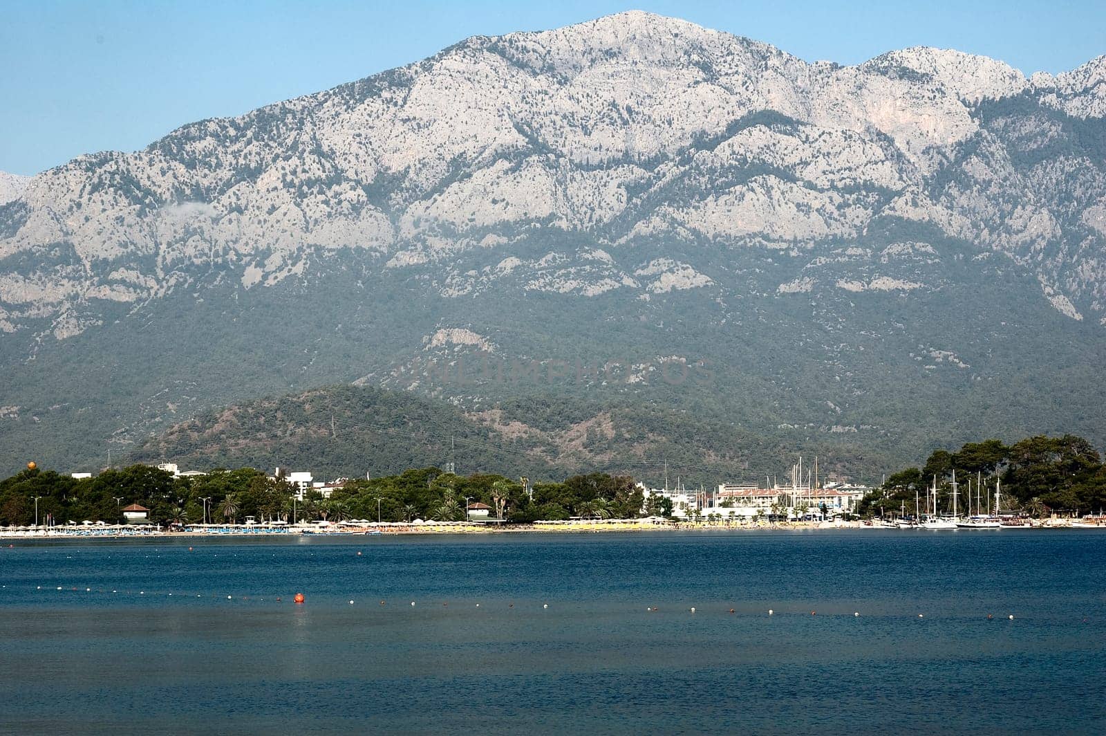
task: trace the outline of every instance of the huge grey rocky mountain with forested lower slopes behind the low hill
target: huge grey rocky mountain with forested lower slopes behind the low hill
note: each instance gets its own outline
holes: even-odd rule
[[[635,11],[81,156],[0,205],[0,465],[351,382],[1104,444],[1104,80]]]

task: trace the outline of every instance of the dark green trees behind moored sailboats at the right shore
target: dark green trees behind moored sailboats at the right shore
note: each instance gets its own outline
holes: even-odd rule
[[[1006,446],[998,439],[968,443],[957,452],[935,450],[921,468],[911,467],[887,478],[865,498],[862,512],[890,512],[905,504],[914,510],[915,494],[922,499],[937,484],[942,511],[952,504],[956,470],[960,508],[967,494],[981,495],[993,508],[995,485],[1001,487],[1003,510],[1031,516],[1098,514],[1106,509],[1106,465],[1094,446],[1082,437],[1036,436]],[[973,501],[974,504],[974,501]],[[984,507],[988,508],[988,507]],[[925,508],[921,509],[925,511]]]

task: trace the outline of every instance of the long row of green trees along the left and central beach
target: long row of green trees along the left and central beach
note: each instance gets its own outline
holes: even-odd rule
[[[529,491],[521,479],[501,475],[457,476],[437,468],[406,470],[371,480],[349,480],[323,498],[309,490],[303,500],[282,479],[253,468],[215,470],[204,476],[177,477],[147,465],[109,469],[94,478],[75,479],[53,470],[23,470],[0,481],[0,525],[123,520],[122,509],[139,504],[157,524],[238,522],[294,518],[299,521],[379,518],[456,521],[467,504],[484,504],[491,518],[509,522],[542,519],[633,518],[643,515],[643,494],[633,478],[603,473],[578,475],[563,483],[535,484]],[[654,505],[650,514],[671,512]]]

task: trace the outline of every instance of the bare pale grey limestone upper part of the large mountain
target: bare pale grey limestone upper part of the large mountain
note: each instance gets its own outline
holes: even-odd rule
[[[838,66],[638,11],[476,37],[138,153],[0,174],[3,325],[63,339],[104,301],[140,304],[212,269],[272,287],[337,251],[448,271],[490,249],[519,259],[519,288],[636,298],[713,283],[695,263],[636,278],[624,252],[641,238],[817,248],[887,218],[1001,251],[1097,322],[1104,60],[1032,79],[929,48]],[[611,260],[521,259],[512,243],[535,228]],[[502,274],[453,273],[442,293]]]

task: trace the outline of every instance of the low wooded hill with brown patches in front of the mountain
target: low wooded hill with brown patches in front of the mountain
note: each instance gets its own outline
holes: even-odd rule
[[[734,442],[738,440],[738,442]],[[866,460],[836,447],[834,473]],[[720,422],[633,403],[503,402],[463,411],[409,392],[323,386],[243,402],[175,424],[138,444],[131,460],[182,468],[307,469],[373,477],[453,464],[460,474],[531,479],[611,471],[662,483],[665,464],[687,485],[752,479],[752,458],[790,465],[791,448]]]

